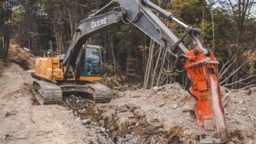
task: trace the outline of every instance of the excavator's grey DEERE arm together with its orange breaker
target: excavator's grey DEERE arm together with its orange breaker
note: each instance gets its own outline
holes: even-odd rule
[[[106,12],[118,3],[120,9]],[[181,37],[176,35],[152,12],[153,9],[168,20],[172,20],[184,27]],[[117,23],[133,24],[165,48],[167,52],[177,57],[176,65],[172,69],[164,69],[167,73],[178,71],[177,63],[182,62],[188,71],[191,90],[190,94],[196,98],[195,113],[202,143],[225,143],[228,141],[228,131],[221,105],[221,94],[218,77],[218,64],[213,54],[202,45],[200,31],[179,21],[173,14],[167,12],[149,0],[113,0],[98,10],[95,14],[79,23],[75,29],[72,42],[68,48],[63,64],[66,65],[64,76],[70,66],[76,69],[77,58],[82,45],[89,37],[105,29],[114,27]],[[184,43],[189,37],[188,43]],[[188,48],[190,43],[194,48]],[[79,63],[78,63],[79,64]]]

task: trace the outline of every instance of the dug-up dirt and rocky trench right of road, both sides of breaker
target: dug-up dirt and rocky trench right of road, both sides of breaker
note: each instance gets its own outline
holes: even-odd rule
[[[104,105],[86,103],[82,96],[66,97],[65,103],[74,109],[75,116],[86,122],[89,118],[108,131],[106,137],[112,143],[199,143],[196,101],[179,84],[115,93],[116,99]],[[256,142],[256,90],[249,96],[242,91],[225,99],[230,141]]]

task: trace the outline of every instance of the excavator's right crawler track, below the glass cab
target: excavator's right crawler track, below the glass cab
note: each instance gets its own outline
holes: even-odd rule
[[[91,103],[109,103],[112,101],[110,88],[99,82],[59,82],[62,92],[85,93],[85,98]]]

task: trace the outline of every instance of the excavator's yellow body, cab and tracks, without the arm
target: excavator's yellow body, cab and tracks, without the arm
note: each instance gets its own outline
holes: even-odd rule
[[[62,93],[79,92],[92,103],[110,102],[110,88],[98,82],[102,73],[101,51],[102,46],[83,45],[79,52],[81,67],[78,79],[72,71],[68,72],[68,79],[64,79],[66,66],[62,64],[63,55],[53,57],[51,54],[51,58],[37,58],[35,73],[32,74],[38,79],[33,82],[33,93],[37,101],[41,105],[62,104]]]

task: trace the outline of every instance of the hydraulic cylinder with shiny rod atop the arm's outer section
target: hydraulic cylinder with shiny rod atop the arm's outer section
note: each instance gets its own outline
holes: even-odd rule
[[[173,22],[176,22],[177,24],[179,24],[180,26],[182,26],[184,28],[188,27],[186,24],[184,24],[183,22],[181,22],[180,20],[175,18],[174,15],[171,12],[167,12],[166,10],[161,9],[161,7],[158,7],[158,5],[155,5],[154,3],[152,3],[149,0],[141,0],[141,1],[142,1],[142,3],[144,3],[144,5],[156,10],[157,12],[159,12],[165,18],[173,20]]]

